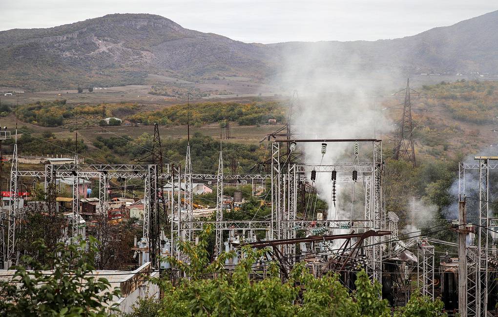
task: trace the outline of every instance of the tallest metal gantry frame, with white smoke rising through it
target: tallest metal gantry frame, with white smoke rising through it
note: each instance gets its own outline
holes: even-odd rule
[[[305,164],[289,163],[283,161],[280,151],[281,143],[307,143],[307,142],[371,142],[373,145],[372,162],[337,162],[335,164]],[[274,140],[271,145],[271,236],[273,239],[295,238],[295,227],[299,222],[296,217],[297,186],[302,181],[306,168],[313,168],[315,172],[332,172],[357,170],[363,176],[361,180],[370,186],[365,190],[366,195],[366,227],[380,231],[384,217],[382,215],[382,145],[380,140]],[[369,177],[370,176],[370,177]],[[360,179],[360,178],[359,178]],[[369,244],[369,274],[377,281],[382,276],[382,246],[380,236],[371,237]],[[294,255],[294,245],[279,246],[283,255]]]

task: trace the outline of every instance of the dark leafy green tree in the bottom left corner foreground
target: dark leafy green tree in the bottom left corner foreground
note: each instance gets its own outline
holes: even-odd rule
[[[90,251],[98,243],[89,237]],[[92,257],[85,251],[87,243],[64,245],[48,250],[43,240],[35,242],[38,252],[51,258],[53,265],[43,265],[30,256],[23,256],[23,265],[15,267],[12,281],[0,283],[0,315],[12,317],[107,317],[117,312],[113,298],[119,290],[96,278]],[[31,270],[27,270],[30,268]],[[43,272],[51,270],[50,273]]]

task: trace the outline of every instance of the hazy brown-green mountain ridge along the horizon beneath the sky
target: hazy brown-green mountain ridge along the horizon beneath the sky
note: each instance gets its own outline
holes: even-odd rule
[[[285,67],[341,70],[356,56],[361,69],[410,73],[498,73],[498,10],[396,39],[245,43],[182,27],[148,13],[116,13],[51,28],[0,31],[0,86],[45,88],[143,84],[148,74],[200,79],[264,80]]]

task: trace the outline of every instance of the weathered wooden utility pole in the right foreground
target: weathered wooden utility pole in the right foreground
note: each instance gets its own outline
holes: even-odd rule
[[[460,198],[461,199],[461,198]],[[465,197],[458,203],[458,313],[467,317],[467,212]]]

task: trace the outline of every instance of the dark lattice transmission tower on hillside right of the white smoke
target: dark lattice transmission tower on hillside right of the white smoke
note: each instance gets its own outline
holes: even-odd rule
[[[406,88],[397,93],[403,91],[405,92],[405,99],[403,114],[398,122],[399,130],[394,145],[394,159],[407,159],[412,162],[413,166],[416,166],[415,145],[413,144],[415,122],[411,116],[411,94],[414,93],[420,96],[420,93],[410,88],[410,79],[406,80]]]

